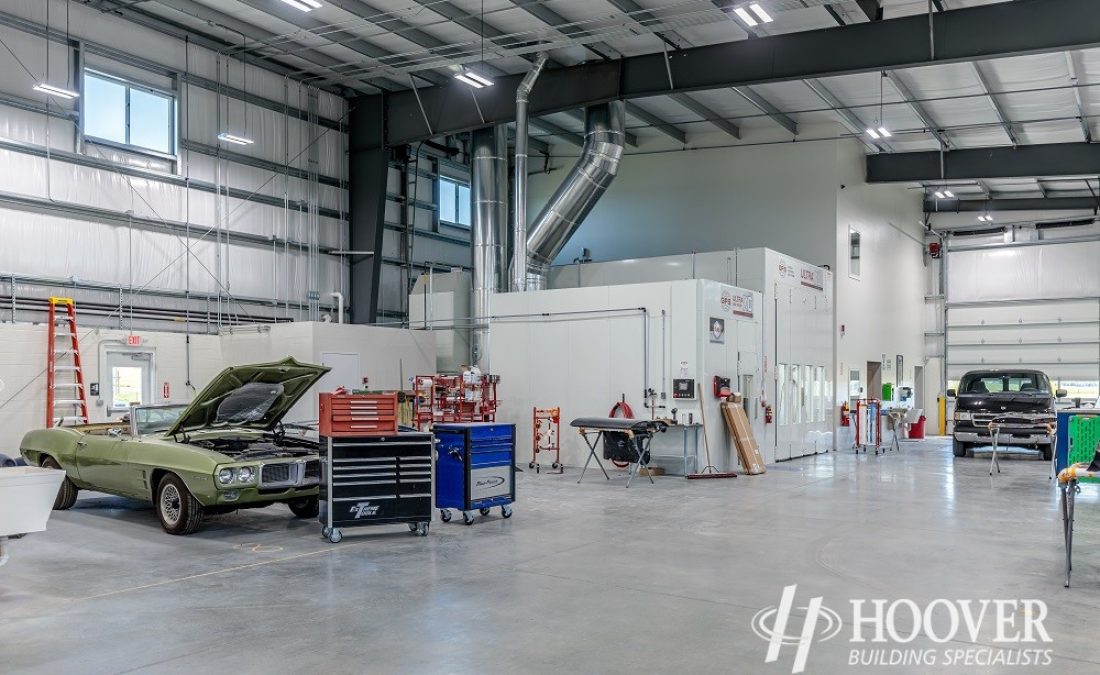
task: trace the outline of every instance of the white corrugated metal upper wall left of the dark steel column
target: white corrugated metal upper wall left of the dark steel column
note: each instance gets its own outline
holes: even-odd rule
[[[4,2],[0,320],[58,292],[103,314],[189,309],[215,328],[328,311],[346,286],[332,253],[348,241],[345,101],[82,4],[65,26],[65,9],[52,4],[51,82],[75,88],[82,60],[173,92],[177,156],[85,142],[79,100],[32,89],[46,75],[45,2]],[[255,143],[219,147],[227,120]]]

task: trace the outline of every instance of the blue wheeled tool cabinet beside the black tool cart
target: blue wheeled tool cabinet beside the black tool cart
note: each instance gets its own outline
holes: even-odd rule
[[[436,507],[443,522],[450,509],[473,524],[474,513],[501,507],[512,517],[516,500],[516,425],[496,422],[436,424]]]

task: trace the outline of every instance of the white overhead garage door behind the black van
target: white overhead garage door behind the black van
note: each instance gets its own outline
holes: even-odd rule
[[[1035,367],[1071,397],[1100,396],[1100,242],[972,244],[947,254],[947,380]]]

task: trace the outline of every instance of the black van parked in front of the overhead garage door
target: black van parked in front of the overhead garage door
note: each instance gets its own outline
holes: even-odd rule
[[[955,398],[955,456],[964,457],[977,445],[991,445],[990,423],[1000,425],[998,444],[1033,447],[1049,461],[1054,453],[1050,430],[1057,417],[1050,379],[1040,370],[970,370],[959,380]]]

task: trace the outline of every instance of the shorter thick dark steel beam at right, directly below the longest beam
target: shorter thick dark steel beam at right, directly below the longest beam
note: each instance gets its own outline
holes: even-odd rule
[[[941,175],[941,155],[943,174]],[[976,178],[1034,178],[1094,176],[1100,166],[1098,143],[1046,143],[926,151],[867,157],[868,182],[974,180]]]

